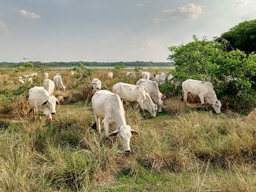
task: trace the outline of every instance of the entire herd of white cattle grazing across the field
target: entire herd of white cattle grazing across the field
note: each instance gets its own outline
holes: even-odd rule
[[[31,73],[30,75],[23,75],[19,77],[19,81],[24,83],[25,81],[32,81],[32,77],[37,75],[36,73]],[[49,122],[52,120],[51,115],[56,113],[56,104],[59,105],[59,99],[53,95],[54,88],[58,90],[65,91],[66,87],[63,85],[61,74],[56,73],[53,80],[50,80],[48,73],[43,74],[45,80],[43,81],[43,86],[34,86],[28,91],[28,103],[33,111],[33,118],[35,115],[40,117],[40,111],[43,114],[48,115]],[[73,72],[74,75],[74,72]],[[101,126],[104,126],[106,137],[116,136],[119,133],[122,147],[124,151],[130,151],[130,137],[132,135],[139,135],[137,131],[133,130],[126,123],[125,111],[123,102],[129,104],[129,102],[134,102],[135,107],[139,107],[145,114],[147,110],[151,117],[156,117],[157,112],[162,111],[164,102],[162,98],[165,98],[158,86],[162,85],[166,80],[176,85],[179,83],[173,80],[173,75],[166,75],[166,73],[161,73],[160,75],[154,76],[150,72],[142,72],[139,70],[140,79],[137,81],[136,85],[124,82],[118,82],[113,85],[112,90],[101,90],[101,81],[98,78],[93,78],[91,81],[91,93],[92,96],[92,108],[95,117],[94,128],[100,133]],[[108,78],[113,78],[113,72],[107,73]],[[135,78],[134,72],[127,72],[127,78]],[[179,83],[180,85],[180,83]],[[221,112],[221,102],[218,101],[215,91],[213,90],[213,85],[210,81],[199,81],[199,80],[186,80],[182,82],[182,97],[184,103],[187,103],[187,94],[193,94],[198,96],[201,101],[201,105],[208,103],[211,104],[216,114]],[[115,129],[109,134],[109,125],[114,125]]]

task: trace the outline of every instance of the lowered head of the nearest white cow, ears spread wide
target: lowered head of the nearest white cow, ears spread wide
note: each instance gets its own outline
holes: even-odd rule
[[[119,127],[119,129],[113,131],[109,134],[109,136],[116,136],[117,133],[119,133],[122,147],[124,148],[125,152],[130,152],[130,137],[132,135],[139,135],[139,133],[132,128],[130,128],[130,125],[122,125]]]

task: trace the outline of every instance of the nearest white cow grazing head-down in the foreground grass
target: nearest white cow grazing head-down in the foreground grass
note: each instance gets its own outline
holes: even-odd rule
[[[98,133],[101,132],[103,122],[105,136],[109,138],[119,133],[124,151],[130,152],[130,137],[132,135],[139,135],[139,133],[126,124],[124,106],[120,97],[108,90],[96,91],[92,97],[92,108]],[[109,124],[114,124],[116,128],[110,134]]]

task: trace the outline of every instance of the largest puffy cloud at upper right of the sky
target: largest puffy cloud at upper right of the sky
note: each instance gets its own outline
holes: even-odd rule
[[[191,20],[198,19],[199,15],[203,12],[202,6],[197,6],[194,3],[189,3],[186,6],[178,7],[178,9],[182,14],[187,15],[187,17],[189,17]]]

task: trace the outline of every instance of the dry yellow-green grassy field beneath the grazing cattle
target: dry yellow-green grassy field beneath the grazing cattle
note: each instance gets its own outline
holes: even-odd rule
[[[92,78],[111,90],[118,81],[135,84],[127,71],[109,80],[106,69],[94,69]],[[55,94],[65,101],[47,123],[20,107],[27,92],[11,94],[22,91],[17,77],[25,73],[0,71],[0,191],[256,191],[256,121],[246,115],[197,111],[180,97],[164,99],[155,118],[126,106],[127,124],[140,136],[124,154],[118,137],[90,130],[90,78],[70,77],[69,70],[51,70],[49,78],[57,72],[66,91]],[[38,72],[34,85],[42,81]]]

